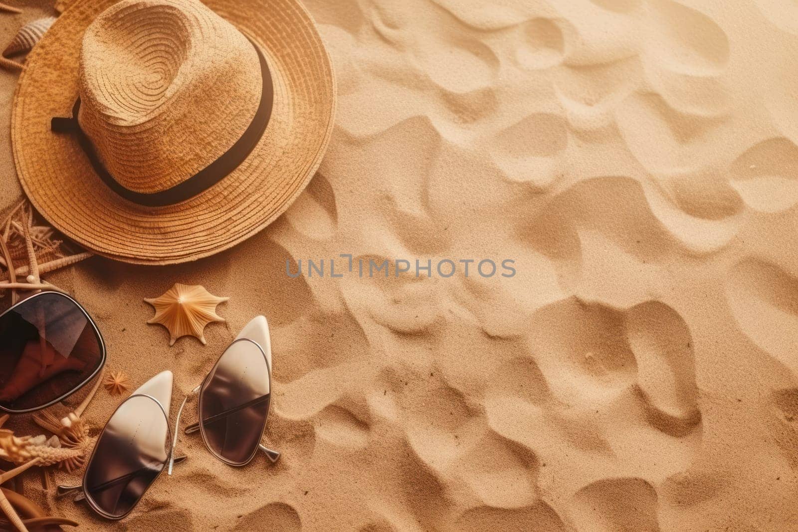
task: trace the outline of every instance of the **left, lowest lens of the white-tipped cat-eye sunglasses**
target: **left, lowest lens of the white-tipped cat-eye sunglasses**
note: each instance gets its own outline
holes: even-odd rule
[[[127,515],[164,470],[168,440],[168,420],[156,400],[124,400],[97,439],[86,467],[83,489],[89,503],[110,518]]]

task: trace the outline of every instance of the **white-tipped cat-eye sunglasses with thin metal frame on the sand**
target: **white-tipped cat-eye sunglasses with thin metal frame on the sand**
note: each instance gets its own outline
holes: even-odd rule
[[[195,395],[199,396],[199,421],[189,425],[186,432],[199,431],[217,459],[242,467],[259,450],[271,462],[279,459],[279,452],[260,443],[271,406],[271,341],[266,318],[258,316],[227,346],[203,382],[183,400],[174,432],[168,420],[172,372],[167,370],[122,401],[97,438],[83,483],[59,486],[58,495],[81,489],[76,502],[85,500],[105,518],[124,518],[164,470],[171,475],[174,463],[185,459],[175,455],[177,434],[180,415]]]

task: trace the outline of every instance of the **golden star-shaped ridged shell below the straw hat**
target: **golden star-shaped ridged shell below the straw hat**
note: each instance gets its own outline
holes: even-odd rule
[[[230,298],[217,298],[203,286],[175,283],[160,298],[144,299],[155,307],[155,316],[147,323],[164,325],[169,331],[169,345],[184,336],[194,336],[206,345],[203,330],[211,321],[224,321],[216,314],[216,305]]]

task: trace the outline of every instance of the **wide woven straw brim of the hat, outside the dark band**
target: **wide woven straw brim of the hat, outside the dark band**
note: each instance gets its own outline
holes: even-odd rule
[[[275,104],[257,147],[207,191],[168,207],[142,207],[105,186],[71,136],[50,131],[77,98],[87,26],[117,0],[73,3],[26,59],[11,115],[17,173],[34,207],[69,238],[139,264],[187,262],[235,246],[285,211],[313,177],[334,123],[330,57],[294,0],[203,0],[263,50]]]

